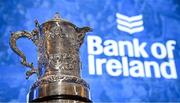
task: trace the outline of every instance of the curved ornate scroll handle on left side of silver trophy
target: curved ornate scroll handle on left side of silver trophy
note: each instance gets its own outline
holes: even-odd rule
[[[37,36],[38,36],[38,30],[33,30],[31,33],[27,32],[27,31],[17,31],[17,32],[13,32],[11,33],[11,37],[10,37],[10,47],[12,48],[12,50],[21,58],[21,64],[31,68],[31,70],[26,72],[26,79],[28,79],[32,74],[36,73],[37,75],[38,73],[38,69],[35,69],[33,66],[33,63],[28,63],[26,60],[26,57],[24,55],[23,52],[21,52],[17,46],[16,46],[16,41],[19,38],[28,38],[30,40],[33,41],[33,43],[35,43],[37,45]]]

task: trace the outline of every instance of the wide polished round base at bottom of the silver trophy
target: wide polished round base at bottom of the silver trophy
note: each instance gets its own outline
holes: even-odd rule
[[[29,102],[91,102],[89,86],[75,76],[51,75],[35,82],[29,92]]]

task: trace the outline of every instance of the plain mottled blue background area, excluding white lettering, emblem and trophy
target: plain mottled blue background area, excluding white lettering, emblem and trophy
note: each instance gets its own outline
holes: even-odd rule
[[[0,102],[25,102],[36,76],[25,79],[25,68],[9,47],[10,32],[32,31],[34,20],[43,23],[59,12],[61,17],[78,27],[90,26],[93,32],[85,37],[80,49],[82,78],[91,88],[96,102],[180,102],[180,1],[179,0],[0,0]],[[126,16],[143,15],[144,29],[129,34],[117,28],[116,13]],[[103,71],[90,75],[87,36],[103,40],[132,40],[148,43],[175,40],[174,60],[177,79],[113,77]],[[28,61],[37,66],[37,48],[28,39],[20,39],[18,47]],[[100,55],[103,58],[105,55]],[[144,58],[136,58],[141,61]],[[153,59],[153,58],[150,58]],[[165,59],[156,60],[166,61]],[[102,67],[105,70],[105,66]]]

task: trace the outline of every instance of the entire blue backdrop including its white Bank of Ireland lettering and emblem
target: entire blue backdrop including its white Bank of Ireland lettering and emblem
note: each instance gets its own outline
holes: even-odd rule
[[[9,47],[10,31],[31,31],[35,19],[43,23],[55,12],[93,28],[80,57],[94,102],[180,102],[179,0],[1,0],[1,102],[25,102],[36,79],[25,79],[28,68]],[[37,65],[31,41],[18,47]]]

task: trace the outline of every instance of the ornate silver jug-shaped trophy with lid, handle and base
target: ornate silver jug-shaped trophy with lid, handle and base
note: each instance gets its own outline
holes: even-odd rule
[[[89,85],[80,77],[79,48],[89,27],[79,28],[60,18],[39,24],[32,32],[13,32],[10,38],[12,50],[21,57],[22,65],[31,68],[27,78],[37,74],[38,79],[29,91],[29,102],[91,102]],[[28,63],[25,55],[16,47],[16,40],[28,38],[38,48],[38,67]]]

